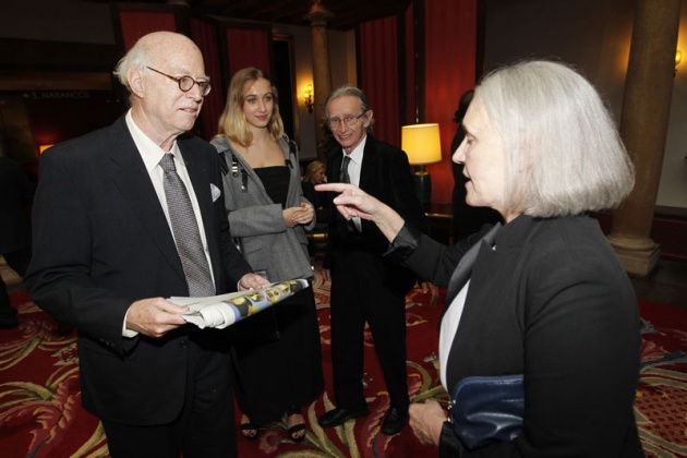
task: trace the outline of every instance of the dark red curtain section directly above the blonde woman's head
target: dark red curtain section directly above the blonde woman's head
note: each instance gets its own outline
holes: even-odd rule
[[[229,74],[245,67],[272,72],[272,32],[267,28],[227,28]]]

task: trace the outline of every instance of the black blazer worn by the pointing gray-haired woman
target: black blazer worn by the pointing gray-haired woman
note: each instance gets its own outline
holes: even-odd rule
[[[447,248],[420,237],[406,263],[447,286],[475,240]],[[478,254],[446,385],[525,373],[525,430],[514,444],[480,456],[641,456],[632,414],[637,299],[598,222],[520,216],[501,229],[495,248],[483,244]],[[471,456],[447,434],[439,448]]]

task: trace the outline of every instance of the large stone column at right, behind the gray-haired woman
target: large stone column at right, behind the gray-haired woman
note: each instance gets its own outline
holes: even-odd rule
[[[613,216],[608,240],[625,269],[646,277],[661,254],[650,233],[671,112],[680,0],[637,0],[636,8],[620,117],[636,184]]]

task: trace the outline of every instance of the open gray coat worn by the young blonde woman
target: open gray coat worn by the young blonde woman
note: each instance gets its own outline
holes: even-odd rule
[[[225,204],[231,236],[241,240],[245,260],[256,270],[266,269],[270,281],[312,277],[305,231],[313,229],[315,219],[305,227],[288,228],[284,222],[281,205],[272,201],[255,171],[231,148],[229,141],[218,137],[210,143],[228,166],[222,177]],[[279,141],[291,172],[287,206],[297,207],[309,201],[303,197],[301,189],[296,144],[291,153],[289,143],[286,135]],[[238,167],[232,169],[233,160]],[[245,191],[242,190],[244,183]]]

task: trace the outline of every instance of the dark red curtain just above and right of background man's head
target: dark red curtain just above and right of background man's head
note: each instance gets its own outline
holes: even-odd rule
[[[360,87],[374,112],[373,135],[400,147],[396,17],[360,25]]]

